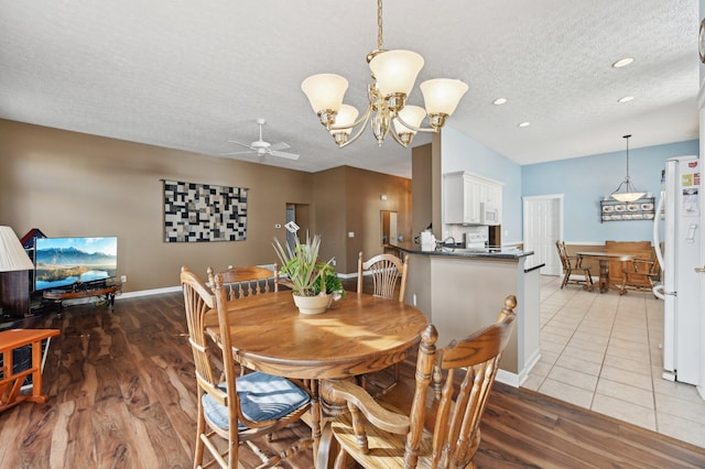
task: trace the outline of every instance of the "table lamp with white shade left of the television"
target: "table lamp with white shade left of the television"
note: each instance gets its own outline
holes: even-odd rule
[[[0,304],[2,314],[30,314],[30,275],[34,263],[26,255],[12,228],[0,227]]]

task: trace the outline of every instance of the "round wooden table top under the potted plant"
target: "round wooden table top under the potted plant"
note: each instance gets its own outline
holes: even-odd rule
[[[291,291],[228,303],[230,340],[243,366],[299,379],[338,379],[384,369],[403,360],[426,327],[413,306],[347,292],[319,315],[302,315]],[[216,312],[206,319],[216,337]]]

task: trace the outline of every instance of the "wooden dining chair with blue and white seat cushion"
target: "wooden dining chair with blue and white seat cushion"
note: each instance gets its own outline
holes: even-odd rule
[[[297,441],[293,448],[271,456],[260,451],[252,440],[299,421],[308,410],[311,396],[284,378],[261,372],[236,377],[226,288],[221,275],[215,275],[214,281],[212,290],[188,268],[182,268],[188,343],[194,355],[198,394],[194,468],[213,463],[237,468],[241,443],[260,457],[259,467],[273,467],[283,458],[311,447],[313,440]],[[205,331],[206,316],[215,313],[221,337],[219,345]],[[204,449],[210,455],[205,466]]]

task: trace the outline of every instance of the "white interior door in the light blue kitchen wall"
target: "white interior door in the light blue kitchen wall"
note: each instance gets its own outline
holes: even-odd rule
[[[524,197],[523,218],[524,250],[533,251],[533,262],[545,264],[542,275],[560,275],[555,242],[563,238],[563,195]]]

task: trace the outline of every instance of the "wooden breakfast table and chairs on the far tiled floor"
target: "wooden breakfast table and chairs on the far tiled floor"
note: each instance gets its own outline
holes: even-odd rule
[[[660,264],[649,241],[605,241],[595,250],[578,250],[568,254],[565,242],[556,241],[563,266],[561,288],[568,283],[592,291],[595,285],[590,261],[598,264],[600,293],[616,290],[620,295],[628,291],[650,291],[660,280]]]

